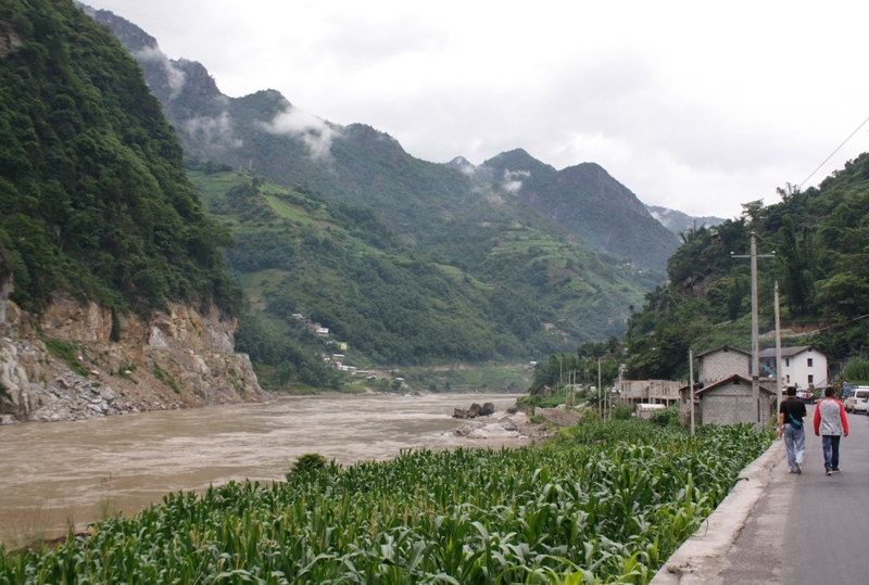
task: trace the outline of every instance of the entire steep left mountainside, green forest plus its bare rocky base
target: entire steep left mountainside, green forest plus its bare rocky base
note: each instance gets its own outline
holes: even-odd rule
[[[0,3],[0,421],[263,399],[231,243],[117,40],[71,0]]]

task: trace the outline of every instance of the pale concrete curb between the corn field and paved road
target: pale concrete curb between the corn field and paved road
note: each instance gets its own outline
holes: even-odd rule
[[[784,441],[773,441],[760,457],[740,473],[742,479],[697,532],[667,560],[650,585],[713,583],[723,568],[723,558],[755,504],[764,495],[773,466],[784,455]]]

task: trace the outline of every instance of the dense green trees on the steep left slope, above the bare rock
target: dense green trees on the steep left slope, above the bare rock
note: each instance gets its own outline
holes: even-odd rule
[[[239,308],[181,148],[137,63],[71,0],[0,4],[0,251],[13,300]]]

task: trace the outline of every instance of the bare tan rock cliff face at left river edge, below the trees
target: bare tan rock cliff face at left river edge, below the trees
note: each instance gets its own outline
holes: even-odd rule
[[[200,313],[171,304],[142,319],[55,295],[36,316],[0,295],[3,315],[0,423],[267,397],[248,356],[232,353],[235,320],[214,307]]]

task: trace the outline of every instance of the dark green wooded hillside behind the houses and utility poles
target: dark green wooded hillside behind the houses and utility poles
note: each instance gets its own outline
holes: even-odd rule
[[[628,329],[634,379],[684,378],[689,348],[750,347],[750,237],[758,252],[761,333],[774,327],[772,293],[781,291],[782,327],[806,333],[785,343],[814,344],[836,363],[869,339],[869,154],[847,163],[819,188],[779,190],[781,202],[745,204],[743,216],[682,234],[668,263],[670,281],[646,295]],[[771,342],[770,342],[771,343]]]

